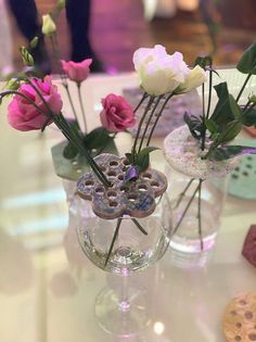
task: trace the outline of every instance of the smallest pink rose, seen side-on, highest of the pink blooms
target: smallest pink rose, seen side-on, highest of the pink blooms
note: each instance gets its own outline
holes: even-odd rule
[[[64,73],[76,83],[81,83],[82,80],[86,80],[89,73],[90,73],[90,65],[92,63],[91,59],[85,60],[80,63],[75,63],[73,61],[65,62],[61,61],[62,68]]]

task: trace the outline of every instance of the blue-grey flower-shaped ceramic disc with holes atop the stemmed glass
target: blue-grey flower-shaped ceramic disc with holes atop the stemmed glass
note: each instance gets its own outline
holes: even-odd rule
[[[111,188],[105,189],[93,172],[82,175],[77,182],[77,193],[92,202],[94,214],[101,218],[114,219],[123,215],[146,217],[155,210],[155,199],[167,189],[164,174],[149,167],[126,189],[125,176],[131,166],[126,157],[103,153],[94,157],[105,174]]]

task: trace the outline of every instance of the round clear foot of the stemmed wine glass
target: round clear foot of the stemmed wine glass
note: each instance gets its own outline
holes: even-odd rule
[[[95,317],[99,326],[119,338],[131,338],[150,326],[146,291],[129,289],[128,300],[111,288],[103,289],[95,300]]]

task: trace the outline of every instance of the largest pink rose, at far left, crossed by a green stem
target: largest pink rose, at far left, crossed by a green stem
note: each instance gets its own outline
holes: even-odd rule
[[[50,106],[54,114],[59,114],[62,110],[62,99],[57,92],[56,86],[52,85],[51,76],[46,76],[44,79],[31,79],[34,86],[40,91],[44,101]],[[36,90],[28,84],[23,84],[18,91],[29,98],[35,104],[37,104],[42,114],[38,109],[35,107],[29,101],[15,94],[12,102],[8,107],[8,121],[9,124],[17,130],[33,130],[41,129],[49,121],[49,110],[42,102]],[[48,123],[50,125],[52,121]]]

